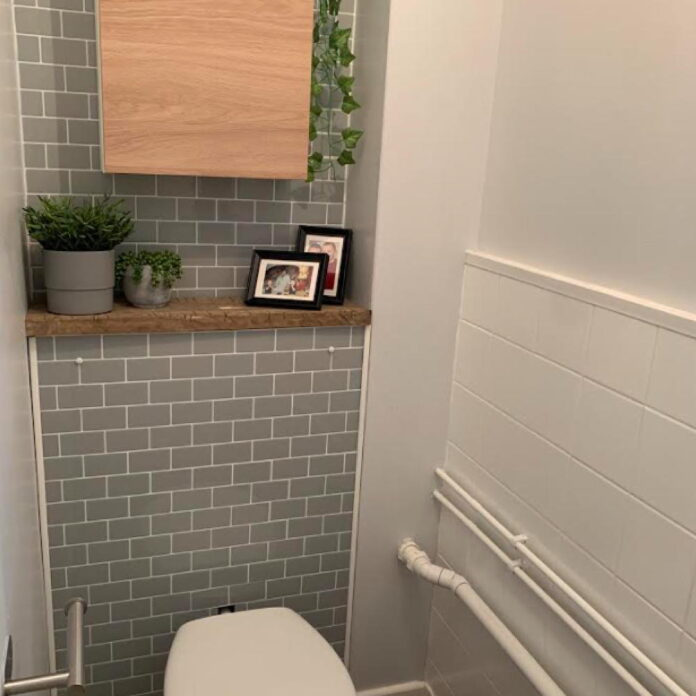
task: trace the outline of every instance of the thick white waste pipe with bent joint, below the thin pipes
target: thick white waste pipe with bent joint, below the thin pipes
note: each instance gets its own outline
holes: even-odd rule
[[[481,599],[466,578],[432,563],[425,551],[412,539],[405,539],[399,546],[399,560],[412,573],[434,585],[451,590],[462,600],[542,696],[566,696],[527,648]]]

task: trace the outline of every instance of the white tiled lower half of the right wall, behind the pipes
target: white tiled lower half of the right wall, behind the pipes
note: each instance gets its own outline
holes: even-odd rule
[[[467,266],[446,466],[696,693],[695,339]],[[439,554],[569,696],[632,693],[447,512]],[[438,595],[437,696],[530,693],[481,632]]]

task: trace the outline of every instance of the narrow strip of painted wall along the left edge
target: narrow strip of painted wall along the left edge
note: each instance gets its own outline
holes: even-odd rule
[[[0,0],[0,640],[15,675],[48,669],[29,400],[20,208],[23,175],[12,7]]]

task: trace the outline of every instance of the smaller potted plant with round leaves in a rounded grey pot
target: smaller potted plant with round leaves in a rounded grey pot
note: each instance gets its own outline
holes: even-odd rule
[[[181,276],[181,256],[173,251],[127,251],[116,262],[116,277],[126,299],[143,309],[167,305]]]

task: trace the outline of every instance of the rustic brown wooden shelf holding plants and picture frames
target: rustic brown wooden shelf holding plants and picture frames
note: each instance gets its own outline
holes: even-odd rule
[[[367,326],[369,309],[346,303],[320,311],[247,307],[237,298],[183,298],[163,309],[137,309],[117,302],[108,314],[50,314],[45,306],[27,312],[27,336],[81,336],[131,333],[194,333],[322,326]]]

